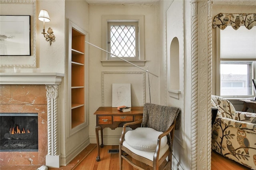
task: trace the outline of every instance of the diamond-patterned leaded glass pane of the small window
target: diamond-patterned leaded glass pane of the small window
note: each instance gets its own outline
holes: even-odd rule
[[[135,26],[110,26],[110,53],[118,57],[135,57],[135,33]]]

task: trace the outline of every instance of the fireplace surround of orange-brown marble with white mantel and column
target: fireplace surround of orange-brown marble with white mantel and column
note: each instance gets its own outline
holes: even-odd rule
[[[60,167],[58,88],[61,73],[0,73],[0,113],[38,113],[38,152],[0,152],[1,166]]]

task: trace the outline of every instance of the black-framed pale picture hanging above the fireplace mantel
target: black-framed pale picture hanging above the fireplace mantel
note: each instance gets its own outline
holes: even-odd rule
[[[0,16],[0,55],[31,55],[30,16]]]

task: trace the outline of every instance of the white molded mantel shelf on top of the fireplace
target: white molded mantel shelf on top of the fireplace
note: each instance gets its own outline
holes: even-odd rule
[[[0,73],[0,84],[58,85],[62,77],[62,73]]]

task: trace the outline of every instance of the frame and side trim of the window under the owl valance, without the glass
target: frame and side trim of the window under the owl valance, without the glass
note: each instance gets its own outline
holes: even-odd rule
[[[220,29],[216,28],[216,95],[220,96],[220,62],[221,61],[252,61],[252,79],[256,79],[256,59],[221,59],[220,57]],[[252,80],[251,80],[252,81]],[[253,98],[255,97],[254,91],[252,95],[244,96],[222,96],[229,99],[240,99],[240,98]]]

